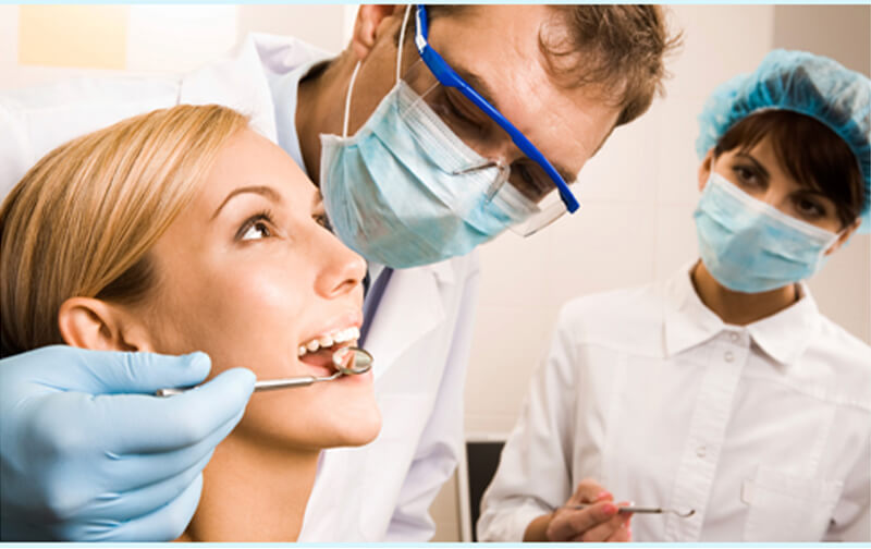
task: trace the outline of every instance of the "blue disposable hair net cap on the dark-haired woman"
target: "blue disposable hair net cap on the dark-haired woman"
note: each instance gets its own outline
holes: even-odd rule
[[[870,233],[871,80],[822,56],[774,50],[755,72],[722,84],[708,99],[699,114],[699,157],[704,157],[733,124],[766,109],[812,117],[847,143],[864,180],[859,232]]]

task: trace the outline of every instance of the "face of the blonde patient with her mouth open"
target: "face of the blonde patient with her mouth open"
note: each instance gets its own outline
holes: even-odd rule
[[[158,274],[144,312],[158,352],[194,350],[212,375],[324,376],[312,339],[359,328],[366,265],[321,224],[317,188],[278,146],[234,136],[195,199],[151,251]],[[371,373],[255,393],[236,434],[314,449],[359,444],[380,428]]]

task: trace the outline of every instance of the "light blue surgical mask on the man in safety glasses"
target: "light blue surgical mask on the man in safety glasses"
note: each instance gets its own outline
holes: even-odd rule
[[[402,80],[345,135],[321,135],[320,190],[335,233],[369,260],[406,268],[465,255],[538,211],[512,185],[491,196],[501,168],[473,169],[489,162]]]

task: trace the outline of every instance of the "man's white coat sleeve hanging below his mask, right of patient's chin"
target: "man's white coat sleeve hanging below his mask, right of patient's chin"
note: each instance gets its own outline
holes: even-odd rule
[[[383,541],[428,541],[436,533],[432,500],[463,455],[463,393],[480,282],[477,255],[465,276],[461,304],[432,415],[418,441]]]

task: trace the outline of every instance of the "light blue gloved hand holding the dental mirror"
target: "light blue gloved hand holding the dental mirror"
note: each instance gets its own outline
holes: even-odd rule
[[[242,418],[250,370],[201,382],[208,355],[49,346],[0,361],[0,539],[163,541]],[[139,394],[135,394],[139,393]]]

